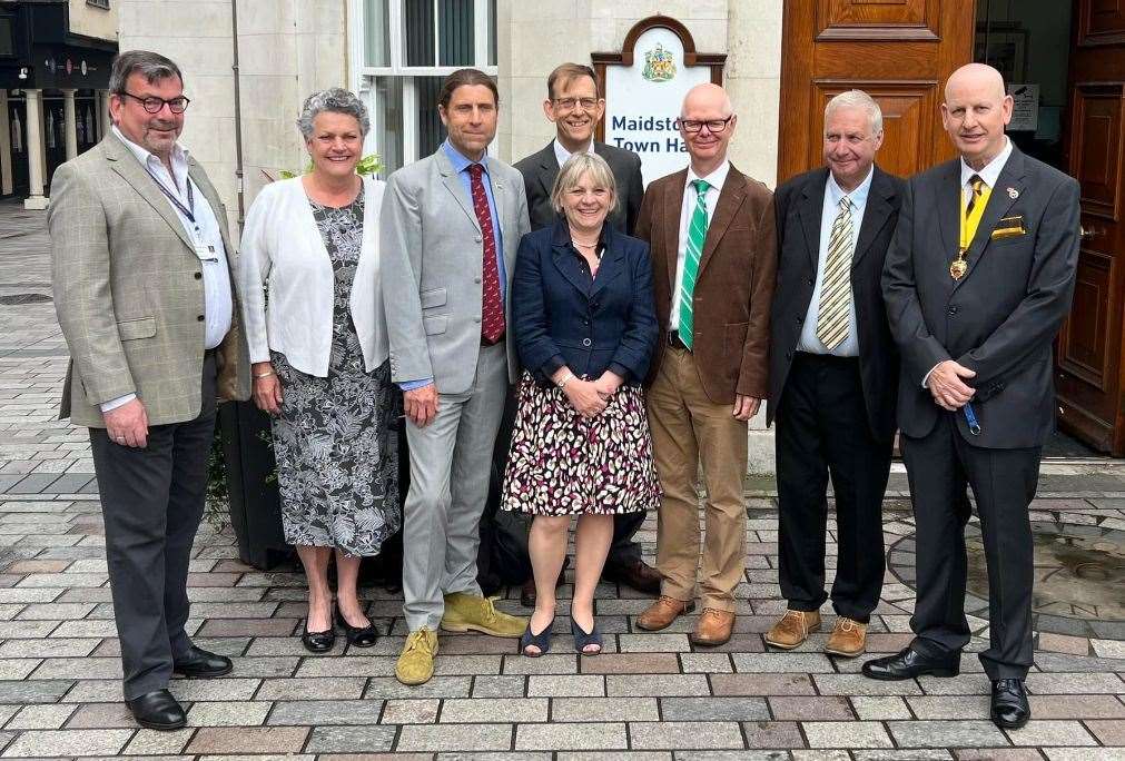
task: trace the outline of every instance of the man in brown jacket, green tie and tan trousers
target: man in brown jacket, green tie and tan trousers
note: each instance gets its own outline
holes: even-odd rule
[[[637,237],[652,255],[665,337],[649,373],[648,418],[664,489],[657,518],[660,597],[640,618],[663,629],[695,607],[700,463],[706,486],[703,614],[691,641],[719,645],[735,624],[746,552],[747,420],[768,388],[770,307],[777,266],[773,196],[730,165],[737,117],[716,84],[684,98],[687,169],[645,192]]]

